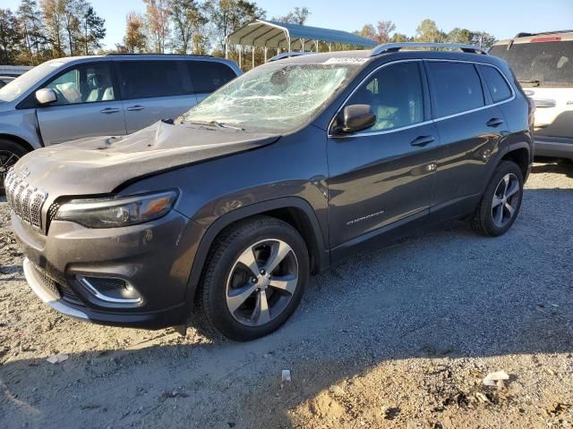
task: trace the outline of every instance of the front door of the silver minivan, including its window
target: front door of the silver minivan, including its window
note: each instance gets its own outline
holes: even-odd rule
[[[46,146],[84,137],[125,134],[124,106],[110,63],[70,67],[42,88],[54,89],[57,97],[56,103],[36,108]]]

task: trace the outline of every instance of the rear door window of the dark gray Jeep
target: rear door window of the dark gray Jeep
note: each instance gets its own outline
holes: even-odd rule
[[[482,81],[474,64],[428,62],[436,117],[460,114],[485,105]]]

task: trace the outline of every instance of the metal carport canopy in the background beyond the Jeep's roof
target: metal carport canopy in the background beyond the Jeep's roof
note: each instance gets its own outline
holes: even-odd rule
[[[227,36],[227,46],[280,48],[287,51],[307,50],[318,42],[374,47],[376,42],[339,29],[320,29],[278,21],[254,20]]]

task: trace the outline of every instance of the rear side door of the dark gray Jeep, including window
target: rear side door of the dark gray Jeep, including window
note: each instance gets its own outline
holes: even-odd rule
[[[452,216],[464,214],[480,197],[488,163],[508,126],[498,103],[492,102],[489,89],[482,83],[478,64],[440,60],[424,63],[432,94],[432,116],[448,154],[438,166],[435,208],[449,209]]]

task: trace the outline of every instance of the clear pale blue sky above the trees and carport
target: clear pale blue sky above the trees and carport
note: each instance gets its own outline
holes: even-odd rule
[[[0,1],[0,7],[13,10],[19,4],[19,0]],[[107,48],[115,47],[124,37],[126,14],[145,10],[141,0],[91,0],[91,4],[106,19]],[[496,38],[512,38],[520,31],[573,29],[573,0],[259,0],[257,4],[267,11],[269,18],[285,15],[296,6],[306,6],[312,13],[306,23],[329,29],[354,31],[366,23],[391,20],[396,23],[396,30],[407,36],[414,36],[416,27],[425,18],[436,21],[446,32],[460,27],[487,31]]]

